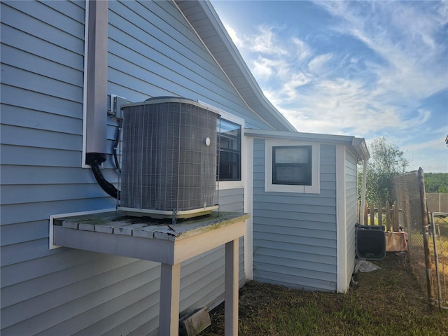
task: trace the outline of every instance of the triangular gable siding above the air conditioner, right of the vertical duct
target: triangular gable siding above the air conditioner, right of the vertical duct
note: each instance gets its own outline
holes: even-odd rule
[[[265,128],[171,1],[109,2],[109,92],[201,100]]]

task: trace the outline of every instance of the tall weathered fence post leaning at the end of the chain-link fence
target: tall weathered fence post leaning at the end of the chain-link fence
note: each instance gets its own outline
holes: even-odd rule
[[[425,252],[425,266],[426,266],[426,287],[428,290],[428,303],[430,309],[434,308],[433,296],[433,281],[431,274],[431,258],[429,251],[429,230],[428,230],[428,214],[426,211],[426,194],[425,194],[425,180],[423,177],[423,169],[419,168],[419,193],[420,193],[420,207],[421,207],[421,225],[423,233],[423,250]]]

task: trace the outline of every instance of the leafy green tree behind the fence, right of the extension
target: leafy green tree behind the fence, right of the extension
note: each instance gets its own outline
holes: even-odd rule
[[[409,161],[398,146],[391,144],[385,137],[376,137],[369,146],[370,159],[367,165],[367,202],[393,202],[391,199],[393,178],[406,172]],[[358,185],[363,172],[358,174]]]

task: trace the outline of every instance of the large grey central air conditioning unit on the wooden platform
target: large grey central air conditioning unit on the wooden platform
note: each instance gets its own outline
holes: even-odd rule
[[[118,209],[131,216],[190,218],[218,209],[219,115],[190,99],[125,104]]]

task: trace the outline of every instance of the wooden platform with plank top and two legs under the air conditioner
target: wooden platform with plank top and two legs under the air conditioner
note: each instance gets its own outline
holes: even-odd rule
[[[225,244],[225,335],[238,335],[238,239],[250,215],[212,212],[177,221],[120,211],[53,219],[53,244],[162,264],[160,335],[179,334],[181,262]]]

